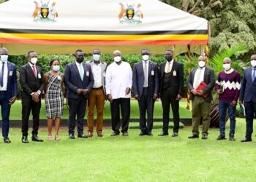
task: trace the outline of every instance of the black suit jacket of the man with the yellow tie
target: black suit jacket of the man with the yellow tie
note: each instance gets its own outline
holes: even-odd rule
[[[164,76],[165,76],[165,65],[166,61],[160,65],[160,76],[159,76],[159,93],[162,95]],[[173,71],[176,71],[176,76],[173,75]],[[182,95],[184,87],[184,68],[183,64],[173,60],[173,67],[170,71],[170,95],[176,97],[178,94]]]

